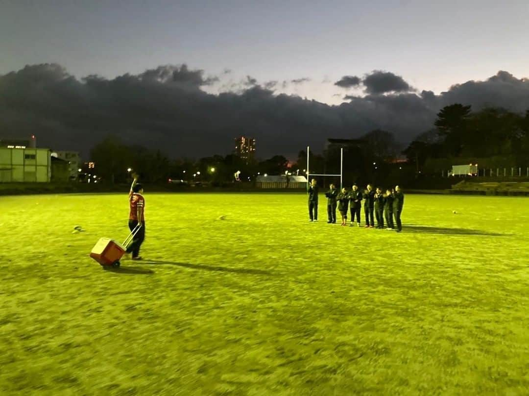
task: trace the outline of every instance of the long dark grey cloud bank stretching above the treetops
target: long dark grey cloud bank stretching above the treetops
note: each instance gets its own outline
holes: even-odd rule
[[[436,113],[452,103],[474,110],[487,105],[529,109],[529,81],[505,71],[440,95],[375,90],[346,96],[347,102],[337,106],[274,94],[272,89],[286,80],[260,86],[248,76],[245,82],[250,85],[229,82],[229,92],[213,95],[202,89],[211,78],[185,65],[80,80],[59,65],[26,66],[0,76],[0,133],[35,133],[41,147],[76,149],[85,157],[111,133],[127,143],[162,148],[172,157],[228,154],[233,137],[248,133],[257,139],[259,157],[295,156],[307,145],[320,150],[329,137],[354,138],[373,129],[408,142],[431,129]]]

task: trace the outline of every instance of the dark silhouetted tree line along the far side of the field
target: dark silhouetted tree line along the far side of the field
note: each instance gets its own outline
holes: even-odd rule
[[[312,174],[340,173],[341,145],[327,145],[321,154],[311,151]],[[407,161],[398,161],[399,157]],[[370,131],[344,147],[344,180],[346,183],[406,183],[416,178],[428,165],[443,167],[468,159],[529,165],[529,110],[518,114],[505,109],[487,107],[472,112],[471,106],[452,104],[443,107],[431,130],[419,134],[403,146],[394,134],[384,130]],[[499,159],[498,159],[499,158]],[[124,183],[138,172],[144,182],[166,183],[168,179],[186,182],[208,182],[213,185],[252,182],[258,175],[304,175],[307,153],[298,152],[295,161],[275,155],[264,160],[244,160],[235,154],[213,155],[200,159],[170,159],[161,150],[126,145],[115,136],[108,136],[91,151],[96,173],[107,183]],[[430,166],[430,170],[434,167]],[[437,169],[435,169],[435,172]],[[323,179],[325,182],[336,182]]]

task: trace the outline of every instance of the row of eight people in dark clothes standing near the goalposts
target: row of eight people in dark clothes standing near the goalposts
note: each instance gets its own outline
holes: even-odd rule
[[[318,192],[316,180],[312,179],[308,186],[309,221],[318,221]],[[347,214],[350,209],[350,226],[354,226],[356,219],[356,223],[360,227],[360,212],[363,201],[365,228],[375,228],[376,219],[376,228],[402,231],[400,214],[404,205],[404,194],[399,186],[395,186],[391,190],[388,188],[386,192],[383,192],[382,188],[377,187],[376,190],[373,190],[373,186],[368,184],[365,190],[360,191],[358,186],[354,184],[350,191],[345,187],[342,188],[342,191],[338,191],[336,186],[331,184],[325,196],[327,197],[327,215],[329,216],[327,223],[336,223],[336,208],[338,208],[342,218],[342,226],[346,226]]]

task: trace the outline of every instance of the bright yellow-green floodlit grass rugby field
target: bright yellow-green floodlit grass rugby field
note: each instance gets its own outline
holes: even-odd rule
[[[408,194],[398,234],[322,198],[147,192],[103,271],[126,193],[0,197],[0,394],[529,393],[529,200]]]

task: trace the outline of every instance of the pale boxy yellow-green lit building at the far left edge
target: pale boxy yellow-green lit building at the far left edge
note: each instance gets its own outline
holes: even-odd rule
[[[0,147],[0,183],[48,183],[51,177],[50,150],[11,143],[16,142]]]

